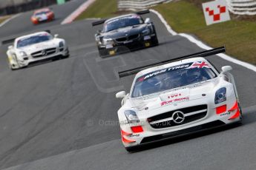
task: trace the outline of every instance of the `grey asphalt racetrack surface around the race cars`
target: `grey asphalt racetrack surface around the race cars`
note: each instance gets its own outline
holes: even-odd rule
[[[54,10],[61,13],[65,7]],[[170,35],[157,16],[149,14],[160,46],[101,59],[93,39],[99,28],[91,27],[91,21],[16,24],[26,16],[5,26],[13,29],[2,27],[1,39],[47,28],[66,39],[71,55],[10,71],[7,45],[0,47],[0,169],[255,169],[255,72],[217,56],[209,58],[218,69],[234,68],[243,126],[167,140],[129,154],[120,140],[120,100],[114,96],[129,90],[133,76],[119,80],[116,72],[202,50]]]

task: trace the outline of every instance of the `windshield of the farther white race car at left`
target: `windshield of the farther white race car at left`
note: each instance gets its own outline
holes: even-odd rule
[[[48,34],[36,35],[36,36],[31,36],[29,38],[24,38],[17,42],[17,48],[22,48],[22,47],[30,46],[32,44],[38,44],[44,41],[49,41],[52,38],[53,38],[52,35],[48,35]]]

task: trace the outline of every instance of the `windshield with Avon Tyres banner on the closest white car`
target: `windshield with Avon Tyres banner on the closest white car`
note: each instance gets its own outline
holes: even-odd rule
[[[200,63],[197,64],[198,67],[193,67],[194,63],[191,63],[143,75],[137,78],[131,97],[137,98],[143,95],[151,95],[156,92],[196,84],[217,77],[206,62],[202,63],[206,67],[202,67]]]

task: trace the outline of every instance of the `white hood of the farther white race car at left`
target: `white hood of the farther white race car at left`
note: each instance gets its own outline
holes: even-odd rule
[[[56,41],[45,41],[42,43],[33,44],[33,45],[30,45],[27,47],[19,48],[19,50],[22,50],[22,51],[26,52],[27,54],[31,54],[33,52],[38,52],[38,51],[46,50],[49,48],[56,48],[58,46],[59,46],[59,43]]]

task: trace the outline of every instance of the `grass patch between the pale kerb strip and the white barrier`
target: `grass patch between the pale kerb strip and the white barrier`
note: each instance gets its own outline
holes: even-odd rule
[[[96,0],[76,20],[84,18],[108,18],[115,16],[117,0]]]

